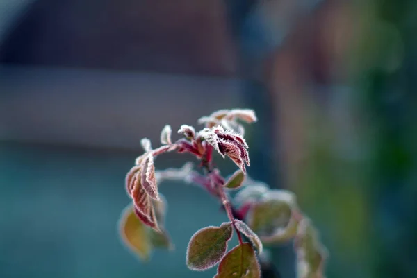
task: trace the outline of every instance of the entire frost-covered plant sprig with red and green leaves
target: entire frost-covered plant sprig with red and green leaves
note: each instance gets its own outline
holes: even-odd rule
[[[323,277],[327,252],[311,221],[298,209],[293,193],[270,189],[247,177],[245,166],[250,166],[250,159],[243,138],[245,130],[239,121],[253,123],[256,116],[252,110],[220,110],[199,119],[205,125],[199,132],[182,125],[178,133],[183,138],[177,141],[171,139],[170,125],[161,132],[162,146],[154,149],[149,139],[141,140],[145,153],[126,175],[126,192],[132,204],[120,220],[124,243],[145,260],[154,248],[173,249],[164,228],[167,202],[159,193],[158,184],[163,180],[184,180],[217,198],[229,218],[228,222],[204,227],[191,237],[186,255],[188,268],[206,270],[218,265],[215,278],[261,277],[259,255],[263,245],[295,239],[298,277]],[[179,169],[155,171],[154,159],[174,150],[197,157],[203,173],[193,171],[190,163]],[[213,150],[223,158],[229,157],[238,171],[228,179],[223,177],[213,167]],[[239,244],[227,251],[234,232]]]

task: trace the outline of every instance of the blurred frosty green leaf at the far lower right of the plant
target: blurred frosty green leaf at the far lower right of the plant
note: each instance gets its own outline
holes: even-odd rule
[[[297,276],[299,278],[322,278],[327,250],[319,241],[317,230],[308,218],[301,220],[295,237],[297,252]]]

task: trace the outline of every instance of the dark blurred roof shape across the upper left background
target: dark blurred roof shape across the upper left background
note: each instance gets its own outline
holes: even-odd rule
[[[221,1],[36,0],[10,24],[0,62],[234,75]]]

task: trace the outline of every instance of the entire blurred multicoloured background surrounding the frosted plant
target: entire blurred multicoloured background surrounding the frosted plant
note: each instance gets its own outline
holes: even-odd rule
[[[259,116],[250,175],[297,193],[327,277],[417,277],[416,34],[415,0],[0,0],[0,277],[212,277],[185,264],[226,219],[202,190],[161,185],[176,250],[147,264],[117,219],[142,137],[234,107]],[[291,244],[272,255],[295,277]]]

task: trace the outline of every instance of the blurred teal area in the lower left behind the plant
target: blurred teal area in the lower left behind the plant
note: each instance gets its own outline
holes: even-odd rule
[[[0,277],[213,277],[214,269],[193,272],[185,263],[190,236],[226,220],[218,202],[197,187],[161,184],[174,252],[156,251],[142,263],[122,245],[117,220],[129,204],[124,174],[135,157],[0,144]]]

